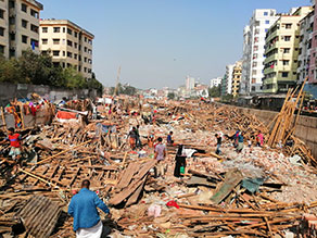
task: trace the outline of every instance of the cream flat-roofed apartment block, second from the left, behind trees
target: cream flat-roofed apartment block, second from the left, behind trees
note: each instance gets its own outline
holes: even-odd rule
[[[92,77],[94,36],[68,20],[40,21],[40,51],[50,53],[62,67],[74,67],[85,78]]]

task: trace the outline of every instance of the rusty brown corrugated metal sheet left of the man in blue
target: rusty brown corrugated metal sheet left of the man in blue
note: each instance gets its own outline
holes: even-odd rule
[[[35,196],[16,215],[31,236],[46,238],[53,231],[60,213],[61,209],[56,202],[42,196]]]

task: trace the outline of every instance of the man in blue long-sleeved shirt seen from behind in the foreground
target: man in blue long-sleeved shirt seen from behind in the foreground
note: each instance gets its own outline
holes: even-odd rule
[[[97,208],[110,214],[109,208],[101,201],[96,192],[89,190],[90,181],[85,179],[80,191],[72,198],[68,213],[74,217],[74,230],[77,238],[100,238],[102,223]]]

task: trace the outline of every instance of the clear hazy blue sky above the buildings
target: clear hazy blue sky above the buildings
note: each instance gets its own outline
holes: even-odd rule
[[[41,18],[67,18],[91,32],[93,71],[104,86],[178,87],[223,76],[242,57],[254,9],[309,5],[309,0],[39,0]]]

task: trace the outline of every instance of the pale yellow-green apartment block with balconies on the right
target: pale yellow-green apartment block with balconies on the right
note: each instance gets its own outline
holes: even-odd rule
[[[312,7],[302,7],[281,15],[266,35],[264,92],[284,92],[296,84],[300,22]]]

